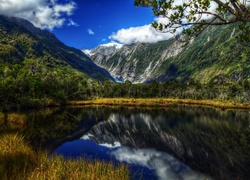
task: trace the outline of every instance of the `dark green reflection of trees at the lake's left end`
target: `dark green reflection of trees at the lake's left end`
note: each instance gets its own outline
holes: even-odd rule
[[[81,109],[54,109],[33,111],[27,114],[25,137],[34,147],[39,148],[50,139],[71,133],[84,118],[90,118],[94,112]]]

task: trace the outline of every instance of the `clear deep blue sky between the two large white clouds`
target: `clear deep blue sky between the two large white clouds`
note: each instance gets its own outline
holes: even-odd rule
[[[75,0],[77,8],[70,17],[79,26],[64,26],[53,32],[67,45],[93,48],[111,41],[112,33],[150,24],[150,8],[137,8],[133,0]]]

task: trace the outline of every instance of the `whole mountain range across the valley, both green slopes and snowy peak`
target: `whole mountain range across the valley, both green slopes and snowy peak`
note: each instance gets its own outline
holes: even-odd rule
[[[24,66],[32,61],[101,81],[105,77],[132,83],[192,79],[221,84],[250,78],[250,47],[238,42],[237,33],[237,25],[211,26],[188,44],[172,38],[155,44],[109,43],[81,51],[29,21],[0,16],[0,63]]]

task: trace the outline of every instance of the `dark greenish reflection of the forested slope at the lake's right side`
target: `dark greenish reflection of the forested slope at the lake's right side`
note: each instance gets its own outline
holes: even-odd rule
[[[177,123],[163,128],[191,149],[184,161],[194,169],[210,172],[216,179],[249,177],[250,136],[247,113],[213,109],[175,111]],[[185,114],[185,115],[184,115]],[[184,117],[184,118],[183,118]],[[173,119],[168,117],[168,119]],[[162,127],[162,126],[161,126]]]

